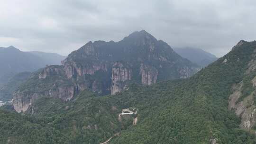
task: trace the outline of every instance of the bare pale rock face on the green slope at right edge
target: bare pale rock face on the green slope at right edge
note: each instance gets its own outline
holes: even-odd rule
[[[240,41],[233,50],[243,43],[245,41]],[[240,127],[246,130],[252,130],[256,126],[256,51],[251,57],[243,81],[233,85],[229,96],[229,109],[235,110],[236,115],[241,118]]]

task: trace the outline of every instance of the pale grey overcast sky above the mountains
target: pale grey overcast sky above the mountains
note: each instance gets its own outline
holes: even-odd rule
[[[222,56],[256,39],[256,0],[0,0],[0,46],[63,55],[145,29]]]

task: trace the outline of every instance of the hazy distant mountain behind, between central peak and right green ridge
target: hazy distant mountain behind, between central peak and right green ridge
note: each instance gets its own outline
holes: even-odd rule
[[[192,48],[192,47],[174,48],[174,51],[180,54],[182,57],[190,60],[193,63],[197,63],[202,67],[205,67],[218,59],[217,56],[210,54],[208,52],[205,52],[199,48]]]

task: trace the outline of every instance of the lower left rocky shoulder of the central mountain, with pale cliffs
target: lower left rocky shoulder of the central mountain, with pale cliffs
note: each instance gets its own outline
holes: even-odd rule
[[[25,112],[32,108],[34,101],[40,97],[69,101],[85,88],[82,84],[74,84],[68,80],[62,66],[47,66],[42,71],[34,73],[18,91],[14,92],[12,104],[17,112]]]

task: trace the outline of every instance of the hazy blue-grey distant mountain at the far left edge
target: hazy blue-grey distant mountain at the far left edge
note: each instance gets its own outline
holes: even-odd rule
[[[22,52],[14,46],[0,47],[0,85],[18,72],[34,72],[47,64],[60,64],[65,57],[43,52]]]

